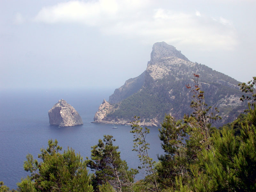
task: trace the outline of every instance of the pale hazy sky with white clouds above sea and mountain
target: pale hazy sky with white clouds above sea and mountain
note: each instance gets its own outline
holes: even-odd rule
[[[255,0],[0,0],[0,89],[118,88],[155,42],[256,76]]]

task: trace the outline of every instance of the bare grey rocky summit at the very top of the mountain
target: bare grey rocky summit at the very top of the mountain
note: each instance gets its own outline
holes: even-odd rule
[[[174,46],[169,45],[163,42],[157,42],[153,45],[152,52],[150,54],[151,60],[150,63],[153,64],[156,61],[164,58],[164,57],[177,57],[186,61],[189,61],[185,55],[183,55],[180,51],[178,51]]]

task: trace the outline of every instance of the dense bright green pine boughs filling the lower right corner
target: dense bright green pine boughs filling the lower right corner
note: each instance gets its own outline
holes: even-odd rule
[[[193,191],[256,190],[255,119],[254,104],[240,124],[240,135],[236,136],[229,127],[214,133],[214,149],[202,150],[198,163],[191,166]]]

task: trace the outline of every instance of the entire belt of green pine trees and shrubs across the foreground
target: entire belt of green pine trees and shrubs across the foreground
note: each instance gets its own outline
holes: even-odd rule
[[[120,158],[111,135],[104,135],[85,161],[71,148],[61,153],[58,142],[49,140],[48,148],[41,149],[41,162],[28,154],[24,169],[31,176],[17,184],[17,191],[256,191],[256,77],[239,85],[249,93],[241,97],[248,100],[247,112],[220,129],[212,127],[220,119],[218,109],[204,102],[199,76],[195,77],[194,84],[186,86],[192,92],[191,115],[181,120],[166,115],[162,122],[159,139],[164,154],[158,162],[148,155],[149,130],[136,117],[131,132],[141,161],[138,170]],[[88,174],[86,167],[94,173]],[[147,176],[136,182],[139,171]],[[0,182],[0,192],[8,191]]]

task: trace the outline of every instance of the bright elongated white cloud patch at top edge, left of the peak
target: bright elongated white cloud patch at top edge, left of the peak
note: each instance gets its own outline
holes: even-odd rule
[[[44,23],[57,22],[78,22],[92,26],[99,26],[105,21],[116,20],[129,9],[137,9],[142,6],[142,1],[118,1],[118,0],[99,0],[99,1],[69,1],[59,3],[55,6],[44,7],[41,9],[34,21]]]

